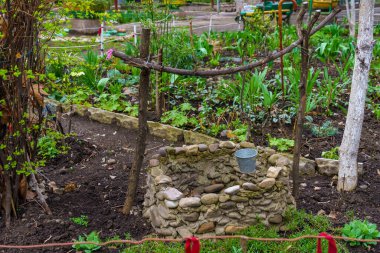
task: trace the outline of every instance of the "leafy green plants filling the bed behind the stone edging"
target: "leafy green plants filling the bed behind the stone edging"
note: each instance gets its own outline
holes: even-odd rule
[[[261,31],[270,31],[264,33]],[[285,28],[284,44],[296,40],[293,26]],[[249,43],[247,43],[249,41]],[[278,31],[265,24],[254,32],[224,32],[202,34],[191,39],[188,31],[164,34],[152,42],[152,51],[163,47],[165,65],[194,69],[229,67],[257,60],[278,48]],[[348,104],[350,76],[353,68],[354,41],[347,30],[332,24],[312,37],[311,69],[308,77],[306,127],[316,137],[333,136],[336,126],[329,118],[345,113]],[[181,46],[179,46],[181,45]],[[132,42],[115,50],[137,56]],[[230,130],[233,139],[265,135],[269,125],[291,124],[299,100],[300,49],[284,57],[284,86],[281,84],[279,62],[267,67],[233,76],[219,78],[183,77],[163,74],[160,91],[164,96],[164,114],[151,119],[173,126],[223,136]],[[380,43],[374,48],[367,109],[379,118]],[[72,57],[52,51],[47,72],[52,82],[47,87],[57,100],[93,105],[102,109],[137,115],[138,69],[118,59],[99,57],[92,50],[78,51]],[[152,74],[152,83],[156,75]],[[151,101],[154,105],[154,91]],[[153,106],[151,108],[154,110]],[[325,121],[316,125],[315,117]]]

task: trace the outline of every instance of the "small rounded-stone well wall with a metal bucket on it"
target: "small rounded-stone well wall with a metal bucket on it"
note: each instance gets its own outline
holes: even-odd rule
[[[243,174],[234,152],[245,147],[253,144],[225,141],[161,148],[147,168],[144,201],[144,216],[156,233],[224,235],[257,222],[280,226],[285,209],[294,204],[289,163],[271,166],[269,160],[277,163],[278,154],[257,147],[256,172]]]

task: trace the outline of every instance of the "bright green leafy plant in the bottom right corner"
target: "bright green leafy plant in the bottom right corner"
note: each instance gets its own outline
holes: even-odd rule
[[[342,229],[342,235],[349,238],[357,239],[378,239],[380,238],[380,232],[377,230],[376,224],[370,223],[367,220],[353,220],[350,223],[344,225]],[[369,245],[376,245],[376,242],[354,242],[350,241],[351,246],[359,246],[363,244],[366,247]]]

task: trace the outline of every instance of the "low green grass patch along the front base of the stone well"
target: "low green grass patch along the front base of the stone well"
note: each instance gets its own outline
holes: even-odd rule
[[[260,238],[294,238],[302,235],[318,235],[320,232],[328,232],[340,234],[338,230],[332,228],[332,225],[327,217],[308,214],[305,211],[289,209],[285,213],[286,232],[278,232],[275,227],[267,227],[262,223],[250,226],[242,231],[241,235]],[[201,252],[207,253],[222,253],[243,252],[238,239],[230,240],[207,240],[202,241]],[[343,242],[337,242],[339,252],[349,252]],[[143,245],[130,246],[124,249],[123,253],[137,252],[154,252],[154,253],[177,253],[183,252],[184,245],[179,243],[156,243],[149,242]],[[315,252],[316,240],[304,239],[298,242],[258,242],[249,241],[247,243],[247,252],[289,252],[289,253],[309,253]],[[327,242],[323,242],[323,250],[327,252]]]

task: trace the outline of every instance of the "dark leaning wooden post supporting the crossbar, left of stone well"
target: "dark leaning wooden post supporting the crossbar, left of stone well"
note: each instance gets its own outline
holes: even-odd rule
[[[148,61],[150,43],[150,29],[143,29],[140,45],[140,58]],[[147,106],[149,96],[149,75],[150,69],[142,68],[140,73],[139,86],[139,130],[136,143],[135,157],[128,178],[128,191],[123,206],[123,213],[129,214],[135,201],[137,186],[139,182],[140,170],[143,165],[146,147],[146,136],[148,134]]]

